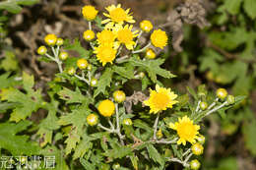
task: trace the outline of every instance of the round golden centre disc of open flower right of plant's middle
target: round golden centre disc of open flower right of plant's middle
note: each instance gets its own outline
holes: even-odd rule
[[[169,97],[163,92],[156,93],[155,96],[152,98],[152,102],[154,105],[159,108],[160,110],[163,110],[167,107],[169,103]]]

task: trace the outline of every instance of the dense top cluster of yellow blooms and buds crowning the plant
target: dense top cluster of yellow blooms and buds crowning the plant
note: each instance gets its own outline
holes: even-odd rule
[[[96,54],[97,60],[105,66],[107,63],[113,64],[115,58],[121,53],[123,47],[126,47],[132,53],[144,52],[147,50],[146,57],[154,59],[155,51],[150,48],[151,45],[161,49],[167,44],[167,35],[165,31],[156,29],[151,34],[151,42],[141,50],[135,50],[138,41],[143,32],[149,33],[154,28],[150,21],[144,20],[140,23],[140,30],[135,30],[133,24],[135,20],[130,9],[123,9],[120,4],[110,5],[105,8],[106,17],[101,22],[103,29],[94,32],[92,21],[96,19],[97,11],[93,6],[85,6],[82,10],[84,18],[89,22],[89,29],[84,31],[83,37],[91,43]]]

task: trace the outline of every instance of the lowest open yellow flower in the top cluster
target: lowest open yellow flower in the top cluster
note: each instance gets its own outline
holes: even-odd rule
[[[113,64],[116,50],[111,45],[99,45],[95,48],[94,53],[96,54],[97,60],[104,66],[106,63]]]

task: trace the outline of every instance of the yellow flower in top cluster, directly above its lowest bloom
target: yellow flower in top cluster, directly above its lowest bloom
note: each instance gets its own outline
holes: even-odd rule
[[[96,33],[97,43],[102,45],[112,45],[115,39],[115,34],[108,29],[104,29],[101,32]]]

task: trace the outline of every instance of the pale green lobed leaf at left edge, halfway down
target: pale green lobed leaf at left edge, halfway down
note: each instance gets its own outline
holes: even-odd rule
[[[1,99],[8,102],[18,103],[19,105],[13,109],[10,121],[19,122],[25,120],[32,112],[37,111],[41,107],[43,100],[41,98],[41,90],[32,89],[33,77],[28,74],[23,74],[23,85],[27,93],[19,89],[10,87],[2,90]]]

